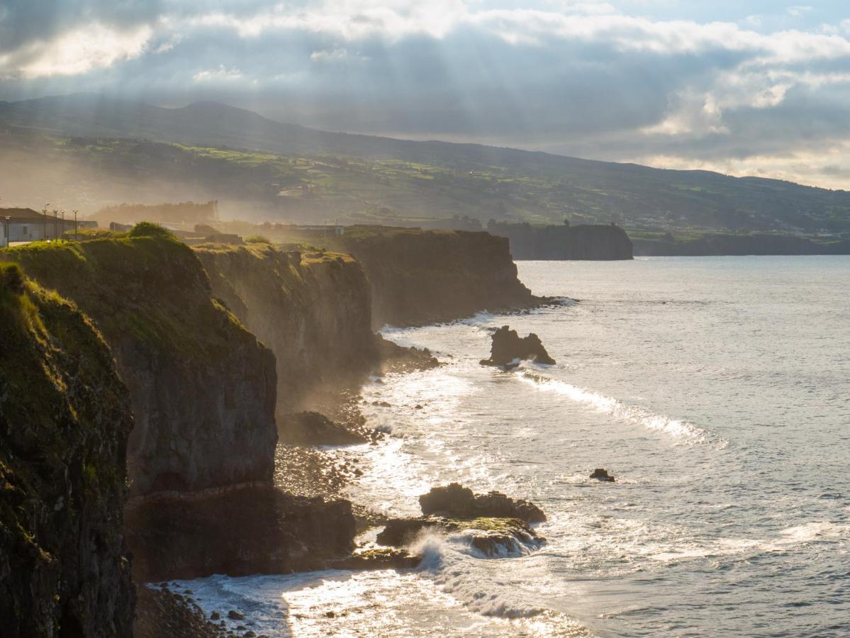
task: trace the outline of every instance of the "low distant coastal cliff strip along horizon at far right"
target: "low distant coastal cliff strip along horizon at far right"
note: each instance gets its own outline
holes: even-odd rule
[[[711,255],[850,255],[850,240],[822,243],[779,234],[707,234],[694,240],[635,239],[639,256],[706,257]]]

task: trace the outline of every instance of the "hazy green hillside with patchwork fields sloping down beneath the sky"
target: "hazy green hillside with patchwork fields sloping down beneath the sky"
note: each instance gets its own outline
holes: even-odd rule
[[[223,104],[163,109],[88,96],[0,103],[0,141],[19,153],[15,166],[27,158],[70,161],[108,176],[112,187],[123,184],[103,196],[107,203],[154,180],[188,186],[197,198],[251,202],[255,217],[302,221],[416,223],[460,215],[484,223],[569,218],[632,228],[850,232],[850,192],[843,190],[327,133]],[[96,200],[91,179],[85,189]],[[69,182],[79,188],[81,179]]]

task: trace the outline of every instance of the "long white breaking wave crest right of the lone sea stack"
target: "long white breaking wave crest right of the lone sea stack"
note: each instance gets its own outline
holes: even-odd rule
[[[538,375],[531,370],[518,370],[514,374],[520,381],[524,381],[538,390],[557,392],[572,401],[586,404],[604,412],[604,414],[611,415],[615,419],[636,423],[648,430],[664,432],[672,437],[682,439],[686,443],[711,443],[721,448],[728,444],[726,439],[683,419],[660,415],[638,405],[625,404],[620,399],[607,397],[604,394],[576,387],[564,381]]]

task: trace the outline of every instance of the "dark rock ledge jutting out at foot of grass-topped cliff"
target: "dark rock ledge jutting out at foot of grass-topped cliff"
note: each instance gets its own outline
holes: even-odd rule
[[[203,499],[127,508],[127,545],[139,582],[317,569],[354,549],[347,500],[241,488]]]

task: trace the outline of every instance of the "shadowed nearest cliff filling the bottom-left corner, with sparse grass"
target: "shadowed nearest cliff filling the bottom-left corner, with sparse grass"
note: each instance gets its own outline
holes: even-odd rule
[[[129,636],[130,398],[70,302],[0,264],[0,634]]]

